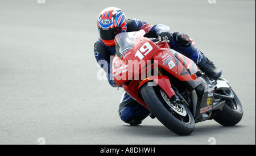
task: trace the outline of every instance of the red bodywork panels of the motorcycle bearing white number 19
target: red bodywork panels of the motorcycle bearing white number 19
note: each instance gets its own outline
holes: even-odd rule
[[[115,56],[112,66],[115,83],[123,87],[138,103],[148,109],[141,96],[139,96],[139,88],[148,81],[154,81],[159,85],[169,98],[175,94],[167,76],[147,76],[152,69],[158,71],[158,68],[162,68],[180,81],[200,81],[195,76],[198,70],[195,62],[180,53],[176,53],[176,56],[174,56],[167,42],[155,44],[143,37],[145,34],[143,30],[138,33],[133,48],[123,54],[121,58]],[[151,60],[154,60],[154,64],[149,64]],[[129,83],[126,83],[128,81]]]

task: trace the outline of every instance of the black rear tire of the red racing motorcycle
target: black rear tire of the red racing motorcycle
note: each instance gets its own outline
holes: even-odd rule
[[[237,95],[231,89],[234,94],[233,99],[222,99],[225,100],[225,105],[220,115],[214,117],[217,123],[224,126],[233,126],[240,122],[243,116],[243,109],[240,100]]]

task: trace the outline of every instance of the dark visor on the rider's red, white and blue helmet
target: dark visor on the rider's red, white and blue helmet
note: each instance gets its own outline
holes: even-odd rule
[[[115,35],[121,32],[121,28],[98,28],[102,40],[114,40]]]

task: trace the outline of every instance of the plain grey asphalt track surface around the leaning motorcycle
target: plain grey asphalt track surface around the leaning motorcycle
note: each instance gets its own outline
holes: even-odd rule
[[[123,123],[123,90],[109,86],[93,54],[97,17],[109,6],[192,37],[240,98],[241,122],[205,121],[182,137],[150,117],[137,127]],[[0,144],[41,137],[46,144],[207,145],[212,137],[255,144],[255,1],[0,1]]]

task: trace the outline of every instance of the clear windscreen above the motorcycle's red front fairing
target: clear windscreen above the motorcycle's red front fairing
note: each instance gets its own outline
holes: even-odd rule
[[[122,32],[115,36],[115,52],[118,58],[133,48],[138,32]]]

